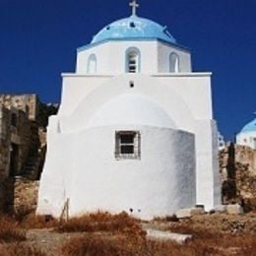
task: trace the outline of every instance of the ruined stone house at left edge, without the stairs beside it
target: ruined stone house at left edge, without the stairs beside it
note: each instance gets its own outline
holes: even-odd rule
[[[0,210],[10,210],[15,178],[21,175],[32,149],[32,123],[37,114],[37,96],[0,95]],[[15,172],[11,173],[13,145],[18,147]],[[14,169],[14,168],[13,168]]]

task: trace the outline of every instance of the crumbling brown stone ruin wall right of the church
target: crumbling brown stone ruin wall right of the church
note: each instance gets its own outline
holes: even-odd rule
[[[240,203],[256,209],[256,151],[228,144],[220,153],[224,203]]]

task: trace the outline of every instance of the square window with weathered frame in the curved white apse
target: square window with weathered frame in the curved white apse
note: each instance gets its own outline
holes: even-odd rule
[[[115,158],[140,159],[140,133],[136,131],[119,131],[115,133]]]

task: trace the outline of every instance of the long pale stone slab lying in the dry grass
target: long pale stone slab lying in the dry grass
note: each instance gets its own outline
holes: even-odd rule
[[[180,244],[183,244],[192,238],[191,234],[171,233],[155,229],[146,229],[146,231],[147,237],[150,239],[157,239],[162,241],[172,240]]]

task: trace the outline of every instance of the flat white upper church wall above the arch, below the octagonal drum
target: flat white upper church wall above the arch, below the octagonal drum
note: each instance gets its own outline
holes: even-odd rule
[[[87,76],[64,77],[59,114],[68,115],[74,112],[74,115],[70,116],[71,125],[76,123],[74,119],[80,120],[80,111],[83,111],[89,120],[104,102],[126,93],[148,96],[157,101],[174,118],[181,130],[194,131],[195,119],[212,119],[209,74],[154,77],[122,75],[108,79],[99,78],[98,81],[101,84],[95,83],[95,78]],[[131,81],[134,82],[132,89]]]

